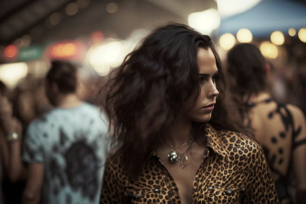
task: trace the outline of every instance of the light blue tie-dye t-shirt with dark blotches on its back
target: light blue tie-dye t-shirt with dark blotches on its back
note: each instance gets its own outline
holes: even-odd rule
[[[106,118],[88,103],[33,121],[23,161],[44,164],[42,204],[98,204],[109,150]]]

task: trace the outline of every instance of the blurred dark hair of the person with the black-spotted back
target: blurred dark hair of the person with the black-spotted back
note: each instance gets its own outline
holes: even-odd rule
[[[252,108],[248,103],[251,95],[268,89],[266,65],[259,48],[250,43],[238,44],[227,53],[227,72],[235,80],[230,91],[241,118]]]

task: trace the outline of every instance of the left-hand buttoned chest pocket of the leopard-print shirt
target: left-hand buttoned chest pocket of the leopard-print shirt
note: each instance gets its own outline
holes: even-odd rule
[[[159,203],[163,200],[159,189],[150,188],[129,189],[125,196],[131,204]]]

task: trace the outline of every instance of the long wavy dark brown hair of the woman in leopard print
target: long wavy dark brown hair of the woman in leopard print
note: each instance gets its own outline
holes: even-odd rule
[[[219,74],[220,92],[210,124],[248,134],[237,108],[227,95],[226,80],[211,38],[184,24],[171,23],[157,28],[125,57],[100,92],[101,104],[110,119],[112,139],[130,176],[137,176],[155,145],[181,113],[192,93],[199,96],[197,50],[210,48]],[[183,93],[188,93],[187,97]],[[193,122],[194,139],[205,140],[205,123]]]

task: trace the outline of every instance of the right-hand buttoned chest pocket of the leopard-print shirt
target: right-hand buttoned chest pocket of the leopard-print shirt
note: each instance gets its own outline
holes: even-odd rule
[[[209,185],[207,187],[207,203],[241,203],[244,195],[244,185]]]

